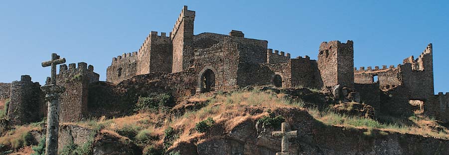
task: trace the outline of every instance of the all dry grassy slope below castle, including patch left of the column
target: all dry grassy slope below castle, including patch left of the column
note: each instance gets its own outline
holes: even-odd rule
[[[228,132],[239,123],[248,119],[258,120],[263,116],[267,116],[268,113],[266,111],[268,109],[293,107],[305,109],[303,103],[290,103],[282,99],[281,96],[283,95],[258,91],[236,91],[229,95],[218,95],[216,97],[202,94],[187,98],[187,100],[190,103],[206,103],[207,105],[196,111],[186,111],[180,116],[172,113],[170,113],[171,115],[167,115],[169,114],[169,110],[159,109],[157,111],[141,112],[122,118],[100,118],[98,120],[79,122],[77,124],[101,129],[102,132],[118,133],[118,135],[131,139],[139,147],[145,148],[144,152],[147,152],[154,148],[164,148],[164,145],[165,149],[167,149],[171,144],[175,146],[177,143],[183,141],[189,142],[193,140],[193,142],[201,143],[205,140],[205,133],[198,133],[194,129],[195,124],[208,117],[213,118],[216,124],[222,126],[225,132]],[[259,115],[251,115],[244,111],[244,109],[251,108],[263,108],[265,112]],[[389,120],[390,123],[381,123],[372,119],[336,114],[330,110],[318,111],[317,109],[307,109],[307,111],[316,120],[326,125],[342,126],[345,128],[378,129],[381,131],[449,139],[449,132],[446,128],[440,131],[429,128],[429,125],[438,126],[438,124],[434,119],[429,119],[425,116],[405,118],[406,122],[412,122],[411,124],[403,123],[403,120],[395,121],[392,118],[384,118],[384,120]],[[3,135],[0,138],[0,143],[9,145],[10,142],[20,139],[21,135],[34,128],[35,126],[32,125],[16,127],[16,130]],[[167,133],[167,129],[170,128],[173,130]],[[173,141],[168,141],[168,136]]]

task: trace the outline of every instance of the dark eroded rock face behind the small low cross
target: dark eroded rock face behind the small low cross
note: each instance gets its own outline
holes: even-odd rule
[[[446,155],[449,151],[447,140],[326,126],[297,108],[273,112],[285,117],[292,130],[298,130],[298,138],[289,141],[293,155]],[[279,130],[247,120],[221,136],[206,138],[196,145],[196,151],[198,155],[275,155],[281,150],[281,138],[273,138],[271,133]],[[189,150],[195,148],[192,145]]]

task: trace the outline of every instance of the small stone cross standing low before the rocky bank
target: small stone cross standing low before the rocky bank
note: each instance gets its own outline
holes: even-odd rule
[[[281,153],[276,155],[290,155],[289,152],[289,139],[298,137],[298,131],[289,131],[289,124],[282,123],[281,131],[275,131],[272,133],[273,137],[282,137],[281,141]]]

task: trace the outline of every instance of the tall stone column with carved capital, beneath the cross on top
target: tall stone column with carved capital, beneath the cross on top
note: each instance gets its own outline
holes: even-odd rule
[[[48,103],[45,155],[58,155],[59,96],[65,88],[57,85],[41,87]]]

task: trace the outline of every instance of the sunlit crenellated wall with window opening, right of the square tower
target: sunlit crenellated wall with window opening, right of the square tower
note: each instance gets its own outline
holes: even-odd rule
[[[360,67],[359,70],[354,68],[354,83],[372,84],[376,82],[373,80],[373,77],[377,76],[379,88],[388,90],[403,84],[400,67],[400,65],[396,68],[393,65],[390,65],[390,67],[387,68],[386,65],[383,65],[382,68],[375,66],[374,69],[372,69],[371,66],[366,69],[365,67]]]

